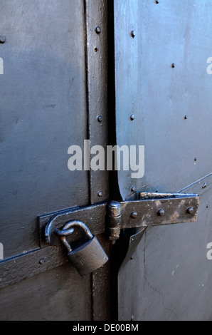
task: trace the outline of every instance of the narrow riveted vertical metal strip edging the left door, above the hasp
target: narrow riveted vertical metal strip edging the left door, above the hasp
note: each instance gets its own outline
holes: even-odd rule
[[[87,28],[88,131],[90,148],[108,144],[107,115],[107,0],[85,0]],[[101,25],[100,25],[101,23]],[[92,71],[90,71],[92,69]],[[101,120],[97,119],[101,116]],[[90,155],[90,163],[94,158]],[[90,170],[90,203],[110,197],[109,172]]]

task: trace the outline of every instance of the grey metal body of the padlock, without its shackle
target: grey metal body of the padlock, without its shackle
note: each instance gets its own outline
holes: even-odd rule
[[[107,254],[105,254],[96,237],[69,252],[68,258],[81,277],[94,272],[108,261]]]

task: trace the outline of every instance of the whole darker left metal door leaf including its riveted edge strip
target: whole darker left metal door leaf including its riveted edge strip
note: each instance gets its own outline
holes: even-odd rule
[[[109,263],[81,279],[38,231],[109,197],[107,172],[67,164],[71,145],[107,143],[107,1],[2,0],[0,31],[0,318],[109,319]]]

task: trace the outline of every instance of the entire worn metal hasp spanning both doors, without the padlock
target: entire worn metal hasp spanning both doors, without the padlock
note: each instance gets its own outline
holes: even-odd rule
[[[40,217],[40,223],[42,227],[43,222],[48,244],[58,245],[55,230],[71,220],[84,222],[93,234],[107,232],[110,241],[115,243],[122,229],[195,222],[199,203],[200,197],[196,194],[139,192],[135,200],[58,212]]]

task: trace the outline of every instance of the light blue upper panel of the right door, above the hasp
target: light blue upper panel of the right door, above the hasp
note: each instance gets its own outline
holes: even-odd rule
[[[115,1],[117,144],[145,145],[144,177],[119,172],[123,199],[132,184],[176,192],[211,173],[211,6]]]

